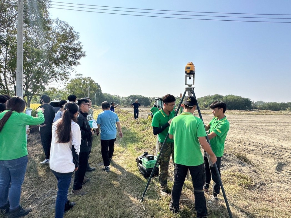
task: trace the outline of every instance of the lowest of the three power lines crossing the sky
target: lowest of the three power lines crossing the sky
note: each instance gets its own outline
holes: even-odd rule
[[[55,8],[55,7],[51,7],[51,8]],[[70,11],[82,11],[82,12],[93,12],[93,13],[101,13],[101,14],[128,15],[128,16],[139,16],[139,17],[159,17],[159,18],[187,19],[187,20],[211,20],[211,21],[259,22],[259,23],[291,23],[291,22],[281,22],[281,21],[220,20],[220,19],[202,19],[202,18],[182,18],[182,17],[165,17],[165,16],[150,16],[150,15],[120,14],[120,13],[109,13],[109,12],[76,10],[76,9],[69,9],[69,8],[55,8],[55,9],[70,10]]]

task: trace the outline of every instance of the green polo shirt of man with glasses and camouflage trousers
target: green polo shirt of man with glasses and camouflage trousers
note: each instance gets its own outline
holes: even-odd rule
[[[172,110],[172,112],[170,112],[169,115],[167,115],[163,109],[160,109],[158,112],[155,113],[155,115],[152,118],[152,126],[154,127],[161,127],[163,126],[166,122],[168,122],[170,119],[175,117],[175,111]],[[158,134],[159,136],[159,142],[163,143],[166,139],[166,136],[168,134],[169,131],[169,126],[164,129],[164,131],[162,131],[161,133]],[[170,139],[168,137],[167,143],[171,143],[174,142],[174,139]]]

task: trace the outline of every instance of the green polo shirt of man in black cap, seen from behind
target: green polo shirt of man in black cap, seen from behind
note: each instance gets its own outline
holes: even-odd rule
[[[172,119],[169,134],[174,136],[174,163],[185,166],[204,163],[198,137],[205,137],[206,131],[200,118],[182,112]]]

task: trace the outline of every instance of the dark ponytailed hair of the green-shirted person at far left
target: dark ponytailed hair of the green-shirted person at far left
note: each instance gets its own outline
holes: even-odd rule
[[[12,112],[16,111],[18,113],[22,113],[25,109],[25,106],[26,104],[22,97],[15,96],[7,101],[6,109],[9,111],[7,111],[0,120],[0,132],[3,129],[3,126],[5,125],[7,120],[9,119],[9,117],[11,116]]]

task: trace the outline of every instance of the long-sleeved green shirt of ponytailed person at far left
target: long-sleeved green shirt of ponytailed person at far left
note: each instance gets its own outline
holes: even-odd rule
[[[0,113],[3,118],[5,110]],[[0,132],[0,160],[13,160],[27,155],[25,125],[38,125],[45,121],[42,111],[38,117],[13,111]]]

